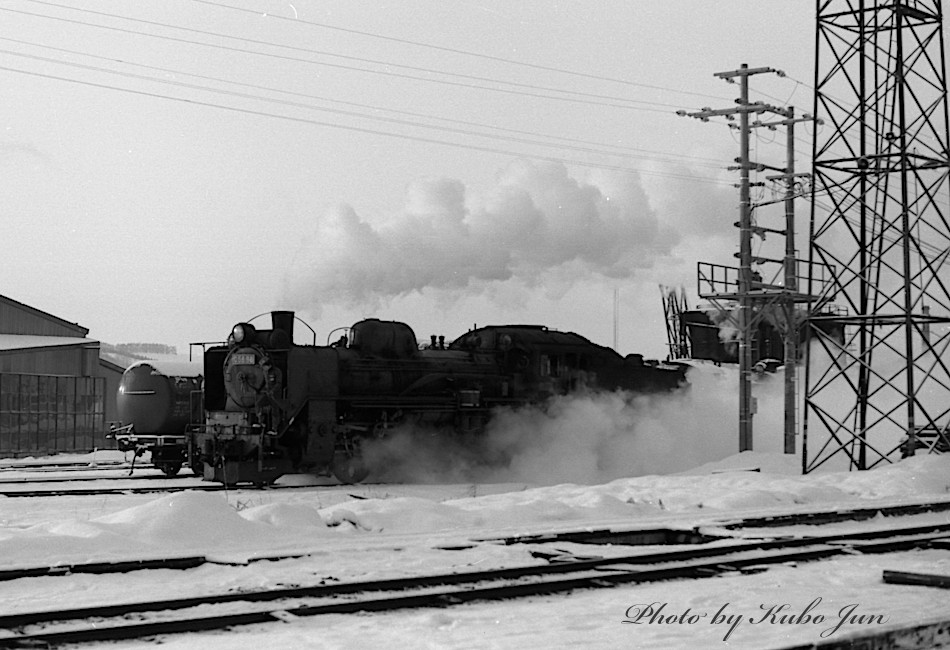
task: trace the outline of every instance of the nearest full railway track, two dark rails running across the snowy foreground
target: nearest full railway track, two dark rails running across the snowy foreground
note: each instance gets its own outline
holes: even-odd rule
[[[947,538],[950,523],[938,523],[808,538],[735,540],[715,546],[611,558],[562,559],[489,571],[26,612],[0,616],[0,648],[145,638],[321,614],[445,607],[658,580],[698,579],[737,571],[752,573],[788,562],[926,547]]]

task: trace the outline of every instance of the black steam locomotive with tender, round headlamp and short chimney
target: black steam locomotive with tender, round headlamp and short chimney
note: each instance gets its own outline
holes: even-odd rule
[[[477,435],[499,407],[685,381],[682,366],[543,326],[482,327],[420,346],[405,323],[367,319],[318,346],[294,344],[293,312],[271,319],[270,329],[238,323],[227,344],[205,351],[205,420],[190,442],[206,479],[266,484],[311,472],[358,482],[368,472],[362,445],[403,423]]]

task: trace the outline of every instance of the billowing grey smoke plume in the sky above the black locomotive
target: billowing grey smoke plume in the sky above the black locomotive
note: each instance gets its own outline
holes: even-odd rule
[[[480,291],[512,279],[533,285],[559,268],[625,278],[677,239],[634,176],[582,181],[562,165],[517,162],[484,197],[436,179],[412,185],[384,222],[337,207],[302,242],[286,285],[291,303],[316,308],[425,289]]]

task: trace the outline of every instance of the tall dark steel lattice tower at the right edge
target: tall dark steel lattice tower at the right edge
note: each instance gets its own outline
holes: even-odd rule
[[[950,448],[941,0],[817,7],[804,472]]]

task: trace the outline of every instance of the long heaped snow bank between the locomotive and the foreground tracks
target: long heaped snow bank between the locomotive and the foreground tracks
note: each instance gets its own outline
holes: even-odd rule
[[[762,471],[744,471],[755,465]],[[0,526],[4,567],[178,555],[309,552],[328,541],[368,534],[633,525],[667,514],[723,514],[796,508],[857,507],[875,500],[950,496],[950,456],[920,456],[866,472],[793,475],[785,458],[739,454],[706,473],[642,476],[601,485],[563,484],[443,500],[400,495],[351,498],[320,507],[325,492],[181,492],[111,514]],[[726,471],[729,467],[738,468]],[[773,473],[767,467],[778,467]],[[409,487],[404,492],[409,491]],[[358,492],[356,487],[352,492]],[[476,490],[472,490],[474,494]],[[366,492],[379,494],[370,486]],[[238,496],[240,494],[240,496]],[[391,494],[395,496],[391,496]],[[243,500],[242,500],[243,499]],[[342,536],[342,537],[341,537]],[[52,558],[52,559],[49,559]]]

